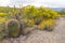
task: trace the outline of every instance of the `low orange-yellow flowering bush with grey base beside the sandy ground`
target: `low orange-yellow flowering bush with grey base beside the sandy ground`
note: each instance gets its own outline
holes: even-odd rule
[[[43,22],[41,22],[39,25],[38,25],[38,28],[40,30],[53,30],[54,29],[54,25],[55,25],[55,22],[53,19],[46,19]]]

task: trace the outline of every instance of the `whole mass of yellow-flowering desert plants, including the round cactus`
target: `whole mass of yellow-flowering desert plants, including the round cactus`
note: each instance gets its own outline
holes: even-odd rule
[[[0,6],[0,39],[28,34],[31,30],[54,30],[55,19],[61,13],[49,8],[27,5],[21,9]]]

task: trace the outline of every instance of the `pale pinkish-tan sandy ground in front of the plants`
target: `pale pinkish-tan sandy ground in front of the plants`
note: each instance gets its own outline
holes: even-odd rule
[[[28,35],[5,39],[1,43],[65,43],[65,18],[56,22],[54,31],[35,30]]]

